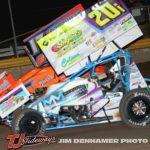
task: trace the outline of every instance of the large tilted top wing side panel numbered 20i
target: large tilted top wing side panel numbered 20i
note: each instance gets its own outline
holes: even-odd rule
[[[132,28],[135,32],[131,35],[128,31]],[[63,24],[58,23],[55,30],[37,43],[57,74],[60,74],[96,51],[100,55],[102,49],[112,41],[122,48],[141,35],[124,3],[121,0],[106,0],[67,19]]]

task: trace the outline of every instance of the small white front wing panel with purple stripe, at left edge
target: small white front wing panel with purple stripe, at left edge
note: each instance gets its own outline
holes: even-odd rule
[[[23,84],[0,98],[0,117],[5,118],[29,100],[29,92]]]

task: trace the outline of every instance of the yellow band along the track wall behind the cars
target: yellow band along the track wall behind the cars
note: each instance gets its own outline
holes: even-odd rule
[[[143,48],[150,48],[150,38],[138,40],[135,43],[127,47],[127,49],[129,50],[143,49]],[[31,65],[31,64],[32,62],[27,56],[4,59],[4,60],[0,60],[0,69],[21,67],[21,66],[26,66],[26,65]]]

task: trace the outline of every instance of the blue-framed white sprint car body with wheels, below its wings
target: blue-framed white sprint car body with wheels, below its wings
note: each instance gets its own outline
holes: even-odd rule
[[[105,75],[95,72],[99,65],[106,67]],[[88,76],[83,76],[87,72]],[[146,127],[150,123],[149,82],[130,53],[119,50],[95,61],[89,58],[79,72],[49,87],[45,95],[30,97],[2,121],[14,133],[26,135],[121,119],[132,127]]]

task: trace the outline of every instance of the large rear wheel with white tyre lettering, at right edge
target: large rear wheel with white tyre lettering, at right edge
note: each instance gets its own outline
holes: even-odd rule
[[[120,102],[122,121],[128,126],[140,128],[150,124],[150,92],[144,89],[132,90]]]

